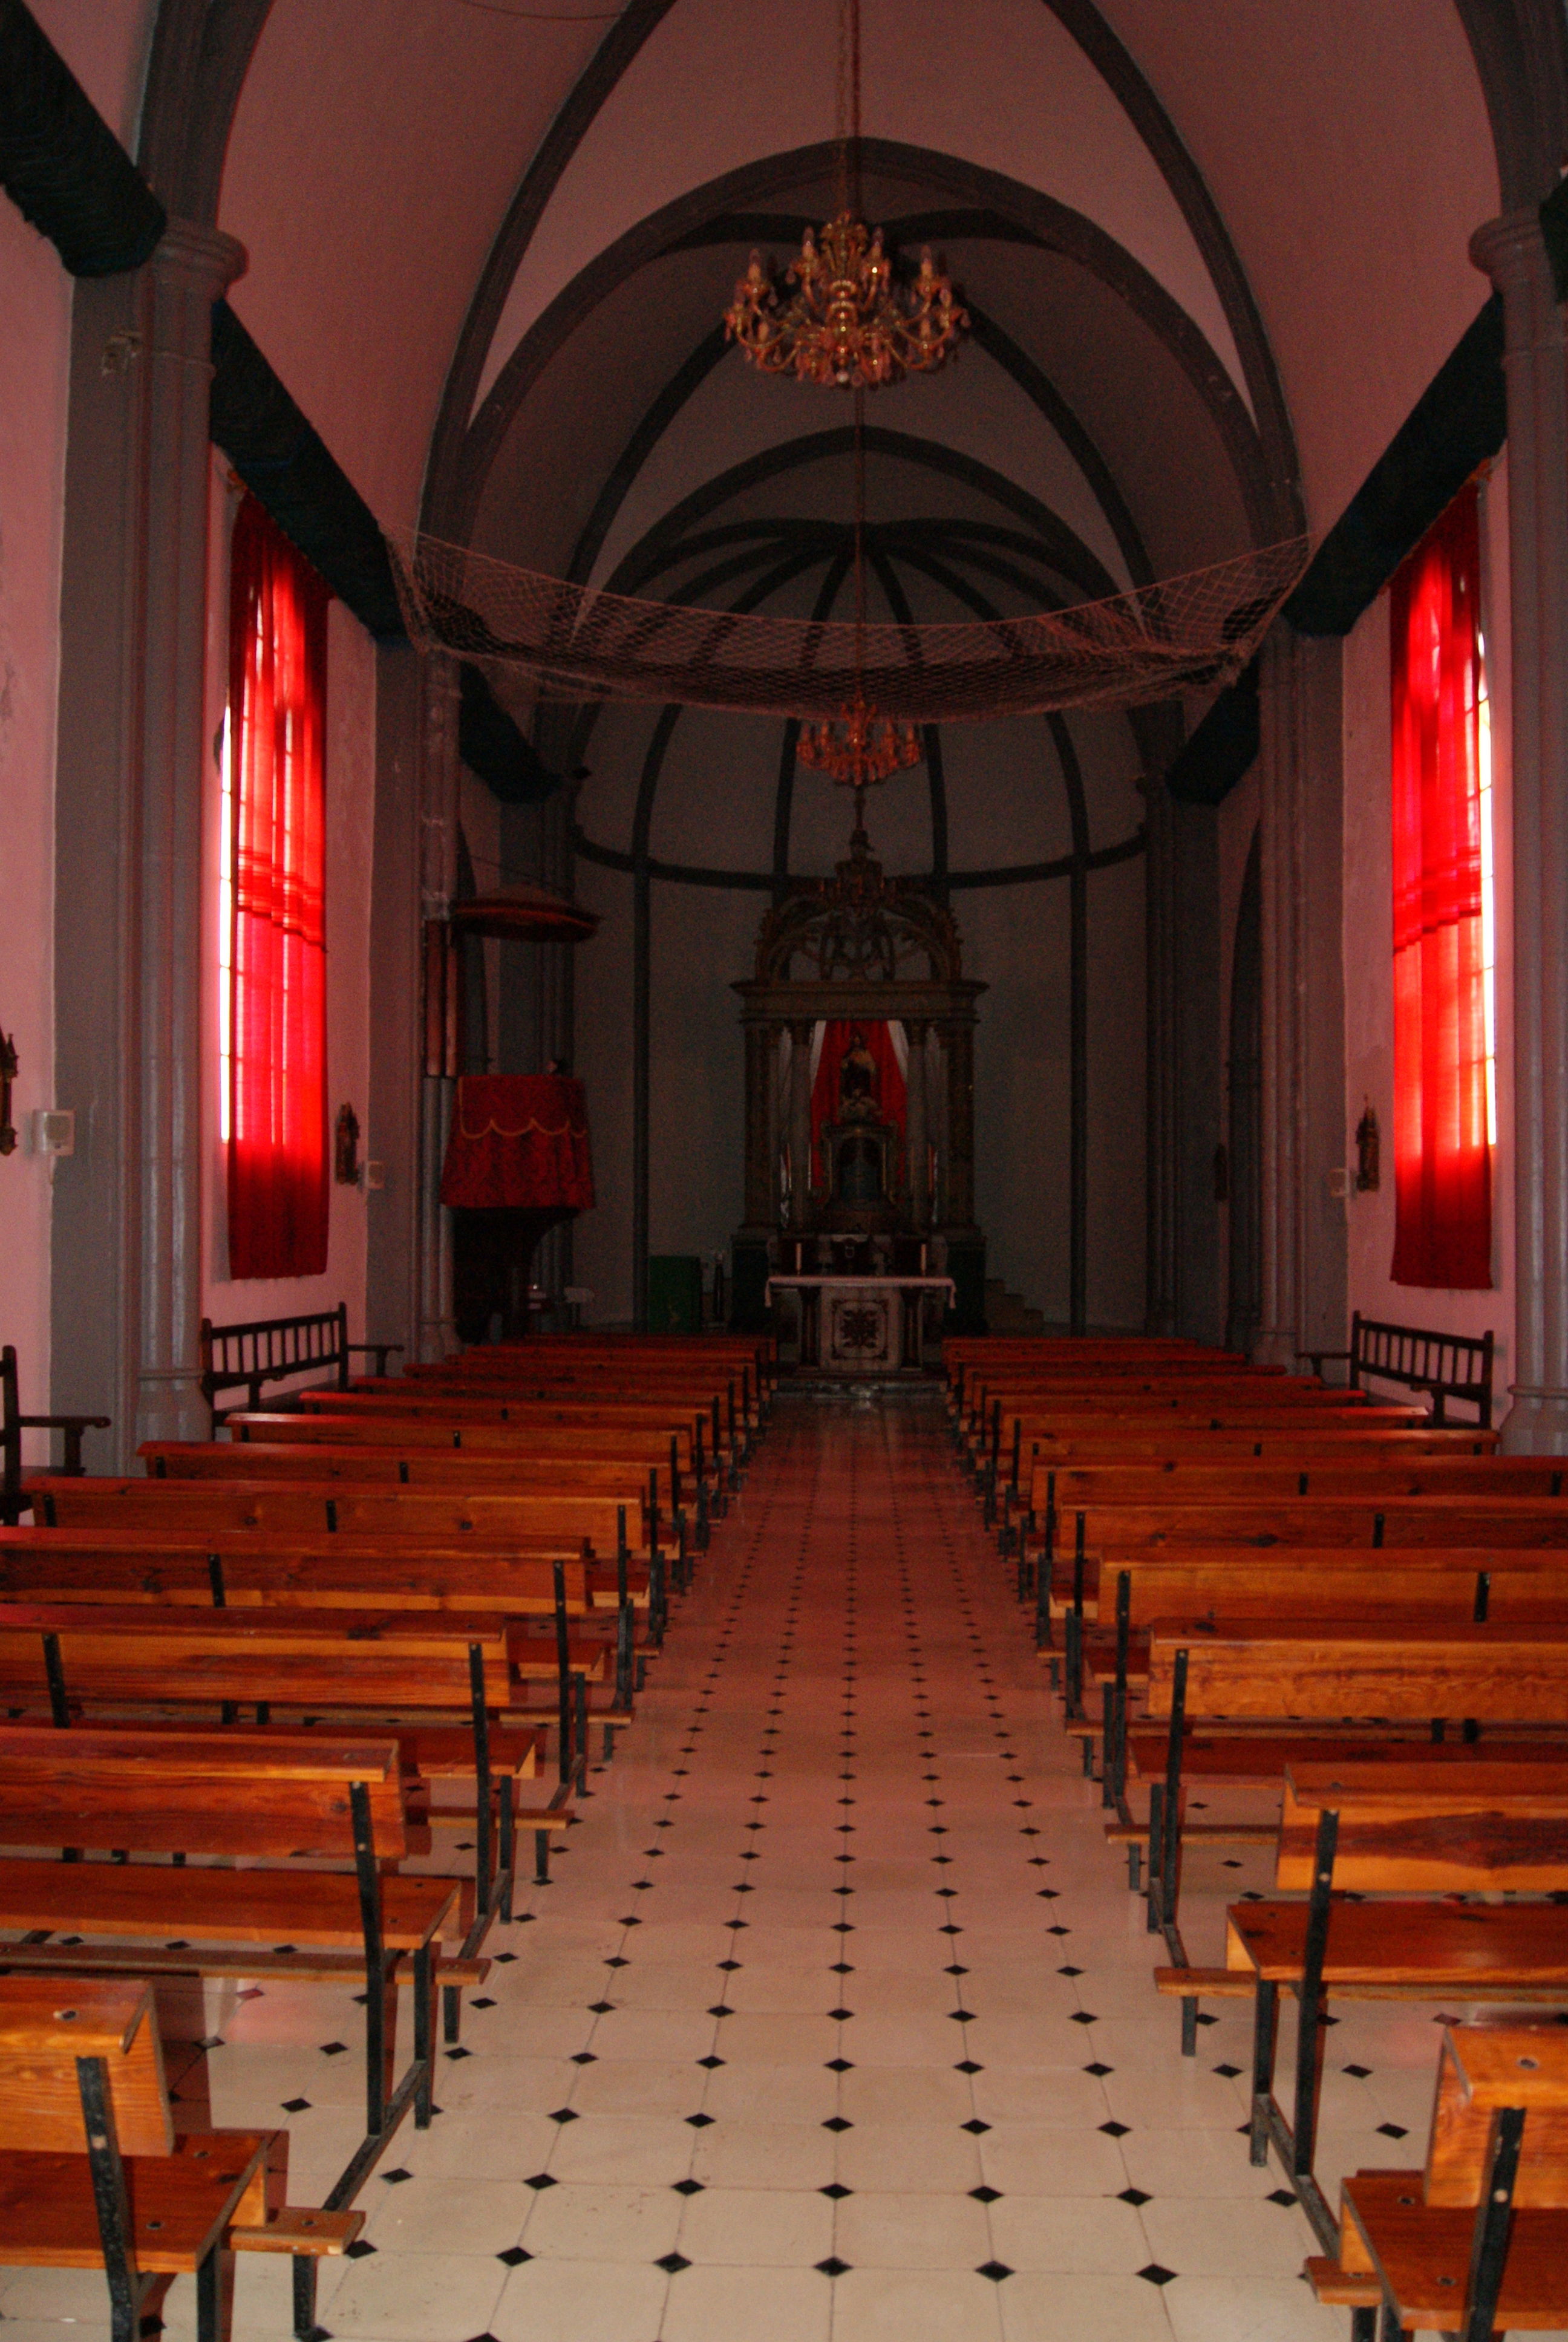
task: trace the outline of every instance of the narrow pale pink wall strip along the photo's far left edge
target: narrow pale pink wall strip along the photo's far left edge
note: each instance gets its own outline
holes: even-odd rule
[[[14,1155],[0,1157],[0,1342],[26,1412],[49,1405],[52,1164],[30,1115],[54,1105],[54,717],[70,279],[0,199],[0,1033],[21,1073]],[[30,1440],[33,1459],[45,1461]]]

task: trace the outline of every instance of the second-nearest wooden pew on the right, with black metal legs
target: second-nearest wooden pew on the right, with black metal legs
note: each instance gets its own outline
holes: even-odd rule
[[[1313,2152],[1331,1993],[1568,2007],[1568,1911],[1455,1902],[1568,1890],[1568,1749],[1554,1764],[1291,1759],[1275,1888],[1308,1890],[1308,1899],[1226,1913],[1226,1965],[1254,1984],[1252,2162],[1266,2164],[1275,2148],[1327,2244],[1334,2223]],[[1282,1988],[1298,2002],[1294,2122],[1273,2091]]]

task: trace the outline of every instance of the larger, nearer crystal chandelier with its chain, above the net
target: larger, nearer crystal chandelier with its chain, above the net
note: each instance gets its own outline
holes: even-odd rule
[[[785,290],[752,253],[724,311],[724,340],[738,342],[764,375],[874,391],[905,375],[935,375],[966,330],[968,316],[930,248],[914,283],[900,286],[881,230],[860,220],[860,0],[839,0],[839,211],[820,244],[806,230]]]

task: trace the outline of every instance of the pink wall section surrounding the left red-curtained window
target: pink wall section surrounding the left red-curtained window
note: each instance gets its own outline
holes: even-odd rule
[[[227,696],[227,466],[213,457],[209,564],[209,721],[216,742]],[[349,1103],[359,1115],[361,1162],[373,1150],[370,1103],[370,836],[375,810],[375,644],[333,602],[326,649],[326,1066],[328,1117]],[[293,1316],[349,1304],[349,1337],[366,1330],[366,1192],[333,1185],[323,1276],[230,1279],[225,1166],[218,1141],[218,759],[206,773],[206,946],[204,946],[204,1208],[202,1307],[218,1323]]]

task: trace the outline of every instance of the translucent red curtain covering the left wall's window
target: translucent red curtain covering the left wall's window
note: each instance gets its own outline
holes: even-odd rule
[[[230,574],[230,1274],[326,1269],[326,604],[253,497]]]

